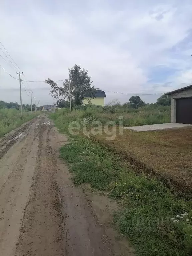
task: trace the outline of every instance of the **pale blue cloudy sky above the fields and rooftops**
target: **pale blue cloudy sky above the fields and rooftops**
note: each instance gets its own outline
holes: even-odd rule
[[[23,104],[29,91],[40,105],[54,101],[48,84],[24,80],[64,80],[75,64],[106,90],[106,104],[132,94],[156,102],[192,84],[191,13],[191,0],[1,0],[0,42],[19,68],[1,44],[0,65],[17,79],[23,72]],[[1,67],[0,100],[20,102],[19,81]]]

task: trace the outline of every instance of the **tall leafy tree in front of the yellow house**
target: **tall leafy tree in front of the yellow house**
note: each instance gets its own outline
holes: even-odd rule
[[[83,98],[85,95],[89,95],[94,98],[94,93],[96,91],[95,87],[91,84],[91,78],[88,76],[88,71],[82,69],[81,66],[75,65],[69,69],[69,79],[70,79],[70,88],[71,88],[71,100],[74,105],[83,104]],[[56,82],[48,78],[45,80],[52,88],[50,94],[54,99],[63,97],[64,99],[69,100],[69,80],[65,79],[63,86],[59,87]]]

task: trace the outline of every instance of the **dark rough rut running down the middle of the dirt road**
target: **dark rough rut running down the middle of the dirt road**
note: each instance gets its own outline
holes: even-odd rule
[[[15,256],[64,255],[56,156],[49,146],[50,129],[45,124],[39,125],[36,168]]]

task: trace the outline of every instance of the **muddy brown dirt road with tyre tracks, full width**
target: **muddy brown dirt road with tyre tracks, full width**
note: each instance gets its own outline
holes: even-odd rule
[[[133,255],[74,187],[58,157],[66,141],[46,115],[0,140],[0,255]]]

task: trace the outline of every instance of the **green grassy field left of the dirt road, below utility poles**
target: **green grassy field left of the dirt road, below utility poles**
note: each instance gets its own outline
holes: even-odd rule
[[[0,109],[0,137],[34,118],[38,114],[38,112],[33,112],[33,114],[31,114],[31,112],[23,111],[21,117],[20,110]]]

